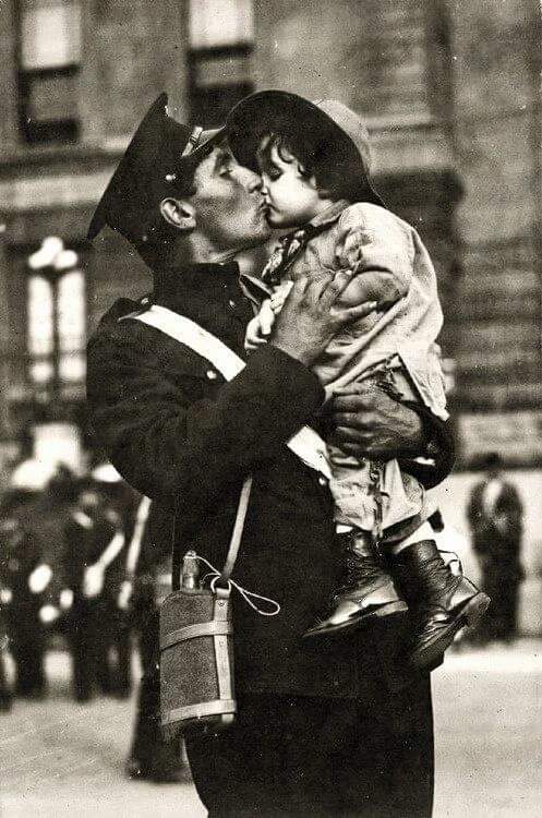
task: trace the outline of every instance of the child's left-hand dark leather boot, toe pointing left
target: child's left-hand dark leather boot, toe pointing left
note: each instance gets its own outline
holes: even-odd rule
[[[346,541],[347,582],[335,592],[329,615],[304,636],[326,636],[352,628],[369,617],[395,616],[408,611],[369,538],[346,534],[340,539]]]

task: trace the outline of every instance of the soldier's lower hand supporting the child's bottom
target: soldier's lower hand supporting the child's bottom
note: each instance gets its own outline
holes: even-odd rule
[[[413,409],[394,400],[374,382],[353,383],[332,398],[332,441],[356,457],[390,460],[423,452],[424,434]]]

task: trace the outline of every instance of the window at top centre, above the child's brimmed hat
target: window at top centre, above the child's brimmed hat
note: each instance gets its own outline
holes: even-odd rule
[[[191,0],[189,94],[191,118],[221,124],[230,108],[253,91],[252,0]]]

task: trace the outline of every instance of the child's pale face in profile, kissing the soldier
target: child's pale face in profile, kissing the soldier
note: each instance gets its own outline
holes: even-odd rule
[[[299,227],[314,218],[318,212],[321,200],[315,179],[303,176],[296,157],[286,154],[284,148],[281,156],[277,146],[273,145],[268,155],[264,156],[262,151],[268,139],[262,140],[258,152],[262,193],[268,207],[267,221],[276,228]]]

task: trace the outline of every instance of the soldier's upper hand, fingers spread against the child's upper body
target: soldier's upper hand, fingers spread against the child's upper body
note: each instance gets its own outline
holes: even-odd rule
[[[276,316],[269,342],[301,363],[313,363],[344,326],[376,309],[376,301],[347,309],[338,306],[352,276],[352,270],[340,270],[333,277],[315,280],[299,278]]]

